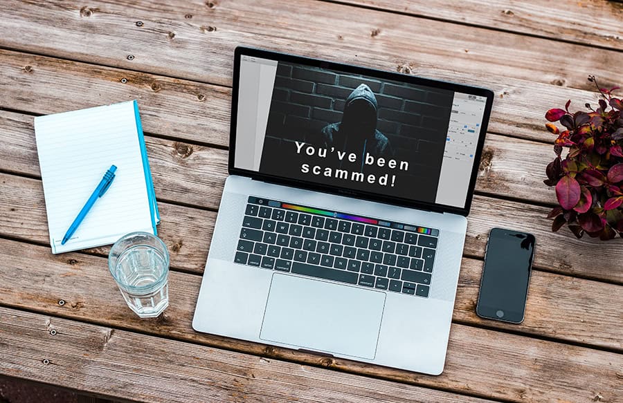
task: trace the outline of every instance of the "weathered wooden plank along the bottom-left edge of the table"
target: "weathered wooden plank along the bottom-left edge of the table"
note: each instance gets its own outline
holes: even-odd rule
[[[0,345],[21,346],[0,373],[122,400],[492,402],[7,308],[0,324]]]

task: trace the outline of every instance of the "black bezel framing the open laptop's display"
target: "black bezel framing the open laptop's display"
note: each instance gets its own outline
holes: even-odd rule
[[[329,185],[323,185],[316,182],[293,180],[284,178],[282,176],[273,176],[262,174],[258,171],[252,171],[250,169],[242,169],[234,166],[235,162],[235,147],[236,147],[236,124],[237,124],[237,111],[238,111],[238,92],[240,85],[240,62],[242,56],[259,57],[262,59],[272,59],[277,62],[289,62],[296,64],[303,64],[306,66],[330,68],[333,70],[343,71],[344,73],[351,73],[357,75],[369,75],[379,79],[390,79],[399,82],[407,82],[410,84],[431,86],[433,88],[440,88],[460,93],[467,93],[470,95],[479,95],[487,98],[485,105],[485,113],[483,115],[480,135],[478,136],[478,144],[476,146],[476,152],[474,153],[474,163],[471,169],[471,177],[469,179],[469,186],[467,188],[467,196],[465,198],[464,207],[455,207],[449,205],[440,205],[437,203],[427,203],[418,200],[411,200],[406,198],[399,198],[395,196],[384,196],[382,194],[376,194],[368,191],[352,190],[352,189],[340,189]],[[303,57],[297,55],[289,55],[287,53],[278,53],[270,50],[262,50],[257,48],[247,48],[245,46],[237,46],[234,50],[234,69],[233,69],[233,84],[231,94],[231,122],[230,122],[230,139],[229,139],[229,157],[228,157],[228,172],[231,175],[247,176],[256,180],[264,180],[266,182],[276,183],[278,185],[287,185],[291,187],[301,187],[301,184],[305,184],[305,189],[312,189],[316,191],[324,191],[330,194],[338,194],[341,196],[348,196],[354,198],[361,198],[364,200],[374,200],[381,203],[388,203],[392,205],[401,205],[405,207],[412,207],[416,209],[424,209],[433,212],[448,212],[452,214],[460,214],[467,216],[469,209],[471,208],[471,201],[473,199],[473,189],[476,187],[476,176],[478,174],[478,166],[480,165],[480,156],[482,155],[482,148],[485,144],[485,134],[487,133],[487,126],[489,124],[489,117],[491,115],[491,105],[493,104],[494,93],[487,88],[480,88],[476,86],[467,86],[463,84],[455,84],[451,82],[444,82],[435,79],[426,79],[422,77],[416,77],[414,75],[406,75],[401,73],[392,73],[389,71],[381,71],[373,68],[366,68],[362,66],[354,66],[350,64],[341,64],[338,62],[330,62],[322,59],[312,59],[310,57]]]

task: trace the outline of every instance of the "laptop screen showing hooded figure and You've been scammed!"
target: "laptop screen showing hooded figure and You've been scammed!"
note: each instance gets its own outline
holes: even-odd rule
[[[415,203],[469,204],[486,96],[274,57],[240,56],[235,168]]]

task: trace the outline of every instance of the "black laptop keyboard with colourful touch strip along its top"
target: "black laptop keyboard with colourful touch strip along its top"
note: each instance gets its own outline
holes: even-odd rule
[[[249,196],[235,263],[428,297],[438,229]]]

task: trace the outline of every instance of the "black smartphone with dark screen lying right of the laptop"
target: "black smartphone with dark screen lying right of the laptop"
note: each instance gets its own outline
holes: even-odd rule
[[[532,234],[512,229],[491,229],[476,304],[479,317],[521,324],[534,243]]]

